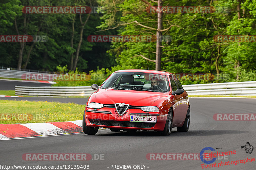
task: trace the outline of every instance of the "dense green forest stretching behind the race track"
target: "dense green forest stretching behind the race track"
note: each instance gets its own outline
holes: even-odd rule
[[[26,7],[48,7],[48,12],[28,12]],[[49,7],[86,10],[51,13]],[[44,41],[7,42],[7,35],[44,37]],[[225,35],[250,36],[250,41],[216,39]],[[0,67],[17,70],[107,78],[116,70],[149,69],[215,76],[211,81],[184,80],[183,84],[256,81],[253,35],[255,0],[0,1]],[[104,36],[108,41],[99,41]],[[150,36],[154,41],[124,41],[120,36]],[[57,85],[90,85],[93,81]]]

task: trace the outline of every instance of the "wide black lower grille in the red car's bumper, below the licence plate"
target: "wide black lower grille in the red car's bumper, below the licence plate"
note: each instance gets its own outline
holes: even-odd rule
[[[141,123],[128,121],[104,121],[104,120],[89,120],[92,124],[102,126],[117,126],[117,127],[131,127],[131,128],[152,128],[156,123]]]

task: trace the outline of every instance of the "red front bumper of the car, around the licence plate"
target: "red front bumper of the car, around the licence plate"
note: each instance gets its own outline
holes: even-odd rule
[[[136,129],[136,130],[164,130],[168,110],[160,112],[146,113],[140,109],[129,109],[122,116],[118,115],[115,108],[103,107],[100,109],[85,109],[86,126],[116,128],[116,129]],[[130,122],[130,115],[156,116],[154,122]]]

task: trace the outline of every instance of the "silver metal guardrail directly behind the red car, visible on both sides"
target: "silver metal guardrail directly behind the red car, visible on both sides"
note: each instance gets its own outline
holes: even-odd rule
[[[256,95],[256,81],[183,85],[188,95]],[[90,96],[91,86],[78,87],[31,87],[15,86],[15,95],[56,97]]]

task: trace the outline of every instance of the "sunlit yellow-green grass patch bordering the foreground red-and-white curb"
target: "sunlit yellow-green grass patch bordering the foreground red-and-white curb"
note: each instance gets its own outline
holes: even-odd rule
[[[0,100],[0,124],[82,120],[85,105],[47,101]]]

